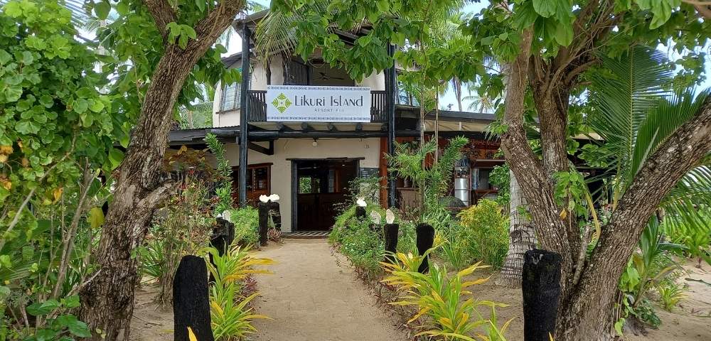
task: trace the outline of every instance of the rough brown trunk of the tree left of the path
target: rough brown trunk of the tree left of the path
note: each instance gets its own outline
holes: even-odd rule
[[[146,0],[145,4],[165,41],[165,25],[175,21],[176,14],[166,0]],[[243,0],[220,2],[198,22],[197,38],[185,49],[165,41],[164,55],[151,76],[138,124],[119,167],[97,251],[99,274],[80,293],[80,317],[93,332],[90,340],[129,340],[138,265],[132,253],[143,242],[154,210],[171,190],[161,173],[176,98],[193,66],[243,7]]]

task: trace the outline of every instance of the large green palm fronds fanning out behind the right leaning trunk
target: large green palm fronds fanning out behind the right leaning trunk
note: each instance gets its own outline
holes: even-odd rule
[[[609,156],[609,171],[603,176],[611,192],[609,206],[615,210],[644,161],[699,112],[709,100],[709,90],[699,94],[693,87],[668,90],[673,87],[673,73],[667,56],[658,50],[636,47],[619,60],[602,58],[602,62],[611,75],[592,77],[594,112],[589,126],[605,141],[600,148]],[[670,228],[683,225],[689,232],[710,231],[710,164],[711,158],[702,159],[661,202],[659,215]],[[690,251],[711,264],[704,249]]]

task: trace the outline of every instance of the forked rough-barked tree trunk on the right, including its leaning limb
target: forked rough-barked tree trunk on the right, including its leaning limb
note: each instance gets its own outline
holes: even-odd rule
[[[550,153],[552,158],[546,161],[545,146],[544,160],[539,160],[525,135],[523,98],[528,85],[530,40],[531,31],[527,30],[522,35],[520,55],[506,67],[504,123],[507,131],[501,136],[501,148],[519,180],[542,248],[562,256],[562,293],[555,340],[610,340],[613,337],[612,306],[617,284],[644,226],[663,197],[711,150],[711,98],[696,117],[681,126],[649,156],[619,200],[610,222],[602,228],[592,256],[576,264],[580,259],[579,252],[585,248],[582,245],[574,247],[576,243],[581,244],[579,232],[573,234],[567,222],[561,220],[551,181],[551,175],[555,173],[551,171],[562,166],[562,161],[557,161],[559,158],[554,153]],[[545,101],[545,98],[538,99],[541,100]],[[552,113],[541,110],[538,114]],[[547,124],[543,124],[544,121]],[[542,136],[560,135],[560,121],[555,118],[541,118],[540,126]],[[547,129],[554,131],[545,132]],[[554,145],[550,150],[560,153],[565,137],[559,137],[560,141],[550,138]]]

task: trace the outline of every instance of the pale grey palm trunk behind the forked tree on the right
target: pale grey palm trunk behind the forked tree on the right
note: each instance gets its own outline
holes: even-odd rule
[[[508,173],[511,179],[508,254],[506,254],[506,260],[503,261],[501,277],[498,278],[496,284],[499,286],[508,286],[509,288],[520,288],[523,255],[526,251],[535,248],[535,233],[533,231],[533,224],[530,224],[528,218],[521,212],[521,210],[525,210],[526,207],[526,199],[523,196],[523,191],[520,185],[518,185],[513,171],[509,171]]]

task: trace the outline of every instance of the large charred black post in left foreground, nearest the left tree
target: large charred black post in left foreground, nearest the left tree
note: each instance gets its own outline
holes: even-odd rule
[[[208,269],[198,256],[183,256],[173,278],[173,334],[175,341],[190,341],[188,327],[200,341],[215,341],[210,327]]]

